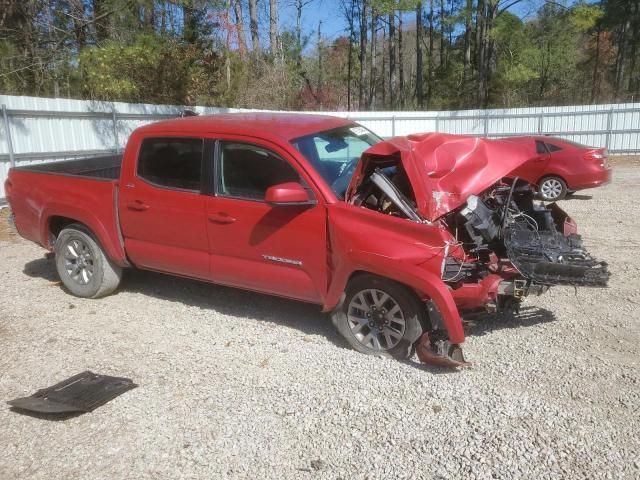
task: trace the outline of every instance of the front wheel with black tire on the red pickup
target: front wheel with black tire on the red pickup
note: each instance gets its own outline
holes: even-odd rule
[[[404,320],[403,329],[400,329],[398,327],[399,324],[395,323],[399,318],[397,313],[394,315],[396,318],[392,319],[387,325],[371,327],[372,321],[364,318],[366,310],[359,309],[356,304],[362,304],[363,299],[366,302],[368,294],[365,292],[372,290],[388,295],[390,300],[387,301],[386,305],[390,306],[391,309],[394,308],[394,304],[399,307]],[[363,297],[358,299],[357,297],[360,294]],[[383,298],[379,293],[377,295],[378,299]],[[369,298],[373,299],[370,295]],[[349,312],[350,307],[353,309],[351,315]],[[370,306],[369,313],[371,313],[372,308]],[[380,311],[378,309],[375,314],[381,315]],[[379,323],[383,323],[385,319],[388,320],[390,314],[391,312],[387,311],[386,317],[378,319]],[[352,320],[356,316],[361,316],[360,320],[368,322],[368,324],[365,325],[363,323],[360,325],[360,322],[356,324]],[[412,290],[393,280],[368,274],[358,275],[349,282],[340,303],[331,313],[333,325],[353,349],[368,355],[381,355],[400,359],[410,358],[413,355],[413,344],[422,335],[422,325],[425,318],[424,305]],[[358,327],[360,327],[360,330],[356,332],[355,329]],[[376,330],[376,328],[381,328],[382,330]],[[388,328],[392,330],[389,331]],[[372,335],[372,338],[375,336],[378,339],[377,346],[380,348],[376,348],[375,341],[371,345],[368,344],[369,342],[367,344],[364,343],[369,334]],[[362,338],[358,338],[359,336]],[[390,338],[392,343],[389,344],[387,341]],[[397,343],[394,344],[394,342]]]

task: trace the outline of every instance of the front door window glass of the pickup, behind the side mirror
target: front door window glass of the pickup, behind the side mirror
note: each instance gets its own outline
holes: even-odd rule
[[[285,182],[301,182],[286,161],[255,145],[221,142],[218,195],[264,200],[267,189]]]

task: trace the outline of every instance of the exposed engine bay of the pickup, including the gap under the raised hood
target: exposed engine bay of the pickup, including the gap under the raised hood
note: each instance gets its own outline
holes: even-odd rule
[[[352,203],[421,223],[411,185],[401,164],[376,168],[361,183]],[[457,288],[498,274],[500,295],[521,298],[552,285],[604,287],[607,264],[582,246],[573,220],[555,203],[535,200],[533,187],[504,178],[436,220],[464,250],[464,259],[447,256],[442,280]],[[435,222],[434,222],[435,223]],[[453,248],[454,245],[447,246]]]

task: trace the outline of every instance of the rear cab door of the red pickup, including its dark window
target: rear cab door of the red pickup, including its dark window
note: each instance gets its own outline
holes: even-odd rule
[[[120,223],[129,259],[140,268],[209,277],[202,138],[142,141],[120,193]]]

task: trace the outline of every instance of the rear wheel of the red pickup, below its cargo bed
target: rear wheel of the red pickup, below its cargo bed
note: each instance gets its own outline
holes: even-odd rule
[[[85,226],[74,223],[62,230],[54,250],[60,280],[75,296],[104,297],[120,284],[122,269],[107,258]]]

